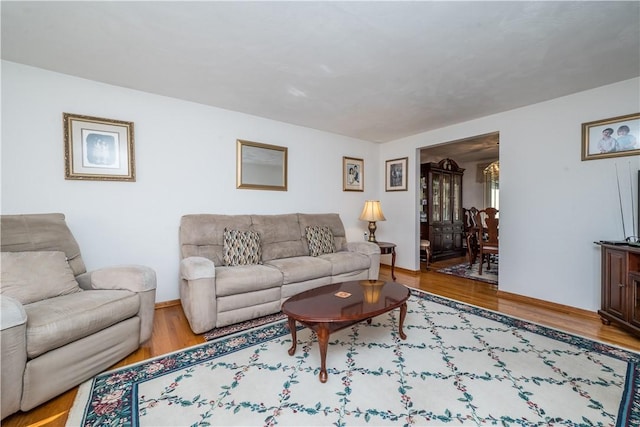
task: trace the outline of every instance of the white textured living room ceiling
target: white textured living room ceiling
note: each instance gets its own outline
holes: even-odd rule
[[[376,142],[640,76],[638,1],[2,1],[1,14],[5,60]]]

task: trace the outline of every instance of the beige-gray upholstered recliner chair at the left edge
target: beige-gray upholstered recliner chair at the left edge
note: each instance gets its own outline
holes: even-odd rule
[[[87,272],[63,214],[2,215],[2,418],[109,368],[151,337],[155,272]]]

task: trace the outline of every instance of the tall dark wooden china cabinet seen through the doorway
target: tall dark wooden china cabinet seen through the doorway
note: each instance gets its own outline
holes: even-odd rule
[[[430,242],[434,260],[464,254],[463,174],[464,168],[451,159],[420,165],[420,239]]]

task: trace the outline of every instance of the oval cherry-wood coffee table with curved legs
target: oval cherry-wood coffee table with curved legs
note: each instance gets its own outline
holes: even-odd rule
[[[289,318],[289,330],[293,343],[289,355],[296,352],[296,321],[316,332],[320,347],[320,382],[327,382],[327,347],[329,334],[355,323],[400,307],[398,333],[407,339],[402,330],[407,315],[409,288],[396,282],[361,280],[336,283],[294,295],[282,304],[282,312]]]

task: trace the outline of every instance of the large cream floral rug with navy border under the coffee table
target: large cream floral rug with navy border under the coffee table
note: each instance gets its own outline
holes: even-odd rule
[[[298,349],[280,320],[98,375],[69,426],[640,423],[640,354],[412,290],[398,310]]]

